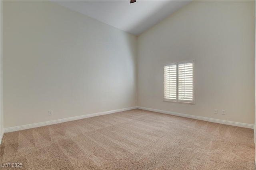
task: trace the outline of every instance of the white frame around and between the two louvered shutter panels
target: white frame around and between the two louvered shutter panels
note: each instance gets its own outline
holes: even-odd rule
[[[186,64],[186,63],[193,63],[193,95],[192,95],[192,98],[193,100],[179,100],[179,64]],[[164,97],[164,93],[165,93],[165,90],[163,90],[163,102],[172,102],[172,103],[180,103],[180,104],[196,104],[196,60],[193,59],[193,60],[186,60],[186,61],[181,61],[181,62],[173,62],[173,63],[170,63],[170,64],[164,64],[163,66],[163,88],[164,88],[164,67],[165,66],[171,66],[171,65],[176,65],[176,99],[167,99]]]

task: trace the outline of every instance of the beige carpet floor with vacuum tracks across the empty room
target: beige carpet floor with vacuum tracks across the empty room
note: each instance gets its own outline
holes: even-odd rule
[[[139,109],[6,133],[0,156],[26,170],[255,170],[252,129]]]

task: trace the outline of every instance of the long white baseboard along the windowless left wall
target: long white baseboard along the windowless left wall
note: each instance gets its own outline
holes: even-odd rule
[[[34,124],[26,124],[26,125],[22,125],[22,126],[15,126],[15,127],[10,127],[10,128],[4,128],[4,132],[8,133],[8,132],[14,132],[14,131],[18,131],[18,130],[38,128],[38,127],[41,127],[41,126],[47,126],[47,125],[58,124],[58,123],[63,123],[63,122],[69,122],[69,121],[73,121],[73,120],[90,118],[90,117],[94,117],[94,116],[112,114],[112,113],[116,113],[116,112],[123,112],[123,111],[132,110],[132,109],[136,109],[136,108],[138,108],[138,107],[134,106],[134,107],[130,107],[130,108],[110,110],[110,111],[106,111],[106,112],[85,114],[85,115],[82,115],[82,116],[75,116],[75,117],[71,117],[71,118],[64,118],[64,119],[58,119],[58,120],[51,120],[51,121],[47,121],[47,122],[39,122],[39,123],[34,123]]]

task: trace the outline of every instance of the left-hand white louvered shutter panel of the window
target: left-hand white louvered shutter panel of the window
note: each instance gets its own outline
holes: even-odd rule
[[[164,98],[177,101],[177,64],[164,66]]]

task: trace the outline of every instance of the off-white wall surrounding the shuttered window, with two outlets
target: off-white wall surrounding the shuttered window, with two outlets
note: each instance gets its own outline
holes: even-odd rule
[[[254,33],[254,1],[193,1],[156,24],[138,37],[138,106],[254,124]],[[191,59],[196,105],[163,102],[163,64]]]

